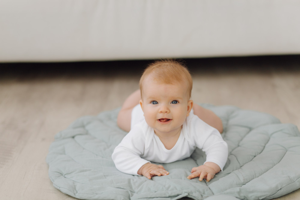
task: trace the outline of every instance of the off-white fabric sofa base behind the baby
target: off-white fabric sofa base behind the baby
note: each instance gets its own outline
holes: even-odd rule
[[[300,53],[298,0],[1,0],[0,62]]]

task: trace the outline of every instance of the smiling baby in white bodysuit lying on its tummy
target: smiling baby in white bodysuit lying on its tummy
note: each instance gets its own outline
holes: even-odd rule
[[[128,97],[118,116],[118,125],[130,129],[112,155],[119,171],[149,179],[168,175],[163,166],[150,161],[183,160],[197,147],[205,151],[206,161],[194,167],[188,179],[210,181],[223,170],[228,147],[220,135],[222,122],[211,111],[193,104],[192,84],[187,68],[176,61],[156,61],[146,68],[140,94],[136,91]]]

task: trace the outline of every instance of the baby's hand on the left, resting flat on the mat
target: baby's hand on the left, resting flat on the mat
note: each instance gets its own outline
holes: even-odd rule
[[[161,165],[155,165],[152,163],[146,163],[137,172],[139,175],[143,175],[149,179],[153,176],[168,175],[169,172]]]

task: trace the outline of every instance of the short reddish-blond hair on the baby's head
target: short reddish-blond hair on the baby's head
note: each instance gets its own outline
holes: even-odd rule
[[[140,79],[141,96],[143,91],[143,82],[149,75],[153,76],[155,81],[173,84],[174,82],[187,83],[188,98],[191,97],[193,80],[187,67],[179,61],[173,59],[164,59],[155,61],[146,67]]]

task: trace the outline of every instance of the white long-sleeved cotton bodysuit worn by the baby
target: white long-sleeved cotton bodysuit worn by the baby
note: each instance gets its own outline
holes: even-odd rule
[[[140,105],[138,105],[140,106]],[[116,168],[124,173],[138,175],[137,171],[149,161],[155,163],[172,163],[190,157],[196,147],[205,151],[206,161],[220,166],[227,161],[228,147],[219,131],[198,118],[192,112],[182,125],[180,136],[170,150],[164,147],[154,129],[149,127],[137,106],[132,113],[132,121],[142,118],[137,124],[131,123],[130,132],[115,148],[112,159]],[[142,116],[137,117],[142,113]]]

